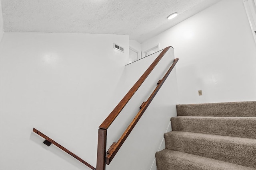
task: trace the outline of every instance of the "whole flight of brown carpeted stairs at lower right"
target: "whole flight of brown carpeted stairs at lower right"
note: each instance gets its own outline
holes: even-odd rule
[[[177,105],[157,170],[256,170],[256,101]]]

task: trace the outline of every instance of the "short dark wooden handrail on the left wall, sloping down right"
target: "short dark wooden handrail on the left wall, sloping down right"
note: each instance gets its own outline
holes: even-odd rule
[[[79,160],[80,162],[82,162],[83,164],[85,164],[86,166],[88,166],[89,168],[91,168],[92,170],[96,170],[96,168],[94,168],[92,165],[88,164],[86,161],[82,160],[82,158],[80,158],[79,156],[77,156],[76,154],[70,152],[68,149],[62,147],[60,144],[58,144],[57,142],[55,142],[54,140],[52,140],[51,138],[49,138],[48,136],[44,135],[43,133],[41,133],[40,131],[36,130],[35,128],[33,128],[33,132],[38,134],[39,136],[43,137],[46,141],[48,141],[48,143],[55,145],[56,147],[60,148],[61,150],[63,150],[64,152],[67,152],[68,154],[70,154],[71,156],[73,156],[74,158],[76,158],[77,160]],[[50,145],[48,145],[50,146]]]

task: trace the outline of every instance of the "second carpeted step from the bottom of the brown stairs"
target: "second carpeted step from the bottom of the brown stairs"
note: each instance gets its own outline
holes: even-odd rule
[[[166,149],[256,168],[256,139],[170,132]]]

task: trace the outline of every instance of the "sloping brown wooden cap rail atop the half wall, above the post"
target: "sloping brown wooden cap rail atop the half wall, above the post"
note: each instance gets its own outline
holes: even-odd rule
[[[148,69],[142,74],[139,80],[132,86],[129,92],[124,96],[124,98],[119,102],[119,104],[114,108],[114,110],[108,115],[108,117],[100,125],[100,129],[108,129],[108,127],[113,123],[118,114],[122,111],[124,106],[129,102],[134,93],[138,90],[144,80],[148,77],[150,72],[155,68],[156,64],[162,59],[164,54],[170,49],[171,46],[166,47],[160,55],[155,59],[155,61],[148,67]]]

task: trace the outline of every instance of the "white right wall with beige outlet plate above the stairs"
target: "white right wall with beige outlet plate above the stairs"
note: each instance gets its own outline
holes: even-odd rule
[[[142,43],[142,50],[158,42],[180,59],[180,104],[256,100],[256,45],[242,0],[222,0]]]

